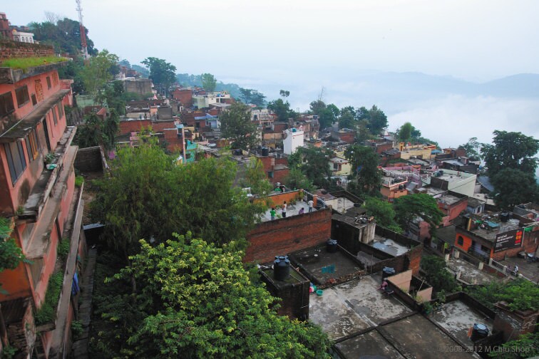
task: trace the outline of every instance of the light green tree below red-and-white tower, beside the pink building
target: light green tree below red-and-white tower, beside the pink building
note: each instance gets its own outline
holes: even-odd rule
[[[118,56],[103,50],[90,58],[89,63],[82,69],[81,79],[84,83],[84,88],[97,102],[103,102],[101,88],[113,79],[111,70],[113,66],[116,66],[117,62]]]

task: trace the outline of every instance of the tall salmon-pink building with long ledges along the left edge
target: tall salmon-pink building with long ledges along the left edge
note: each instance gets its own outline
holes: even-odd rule
[[[39,56],[43,46],[19,43],[24,53]],[[32,49],[36,46],[36,52]],[[52,51],[52,48],[49,49]],[[71,88],[58,79],[62,63],[29,68],[26,72],[0,68],[0,215],[11,221],[11,238],[28,262],[0,273],[6,293],[0,294],[0,337],[21,358],[61,358],[69,353],[71,321],[77,296],[71,296],[81,238],[82,189],[75,187],[71,145],[76,128],[68,127],[63,105],[71,103]],[[53,166],[46,168],[46,162]],[[66,258],[57,248],[68,241]],[[59,298],[53,298],[54,318],[34,315],[52,291],[51,277],[60,278]]]

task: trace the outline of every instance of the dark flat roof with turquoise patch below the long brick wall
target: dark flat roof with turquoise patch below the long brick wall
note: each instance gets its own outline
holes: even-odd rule
[[[361,267],[342,251],[329,253],[325,246],[310,248],[290,254],[290,257],[301,264],[319,283],[326,283],[329,279],[338,279],[342,276],[361,271]],[[322,273],[322,268],[335,266],[333,273]]]

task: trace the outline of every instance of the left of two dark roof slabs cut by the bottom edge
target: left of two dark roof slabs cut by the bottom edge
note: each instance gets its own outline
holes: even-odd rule
[[[335,346],[346,358],[404,359],[404,356],[375,330],[344,340]]]

